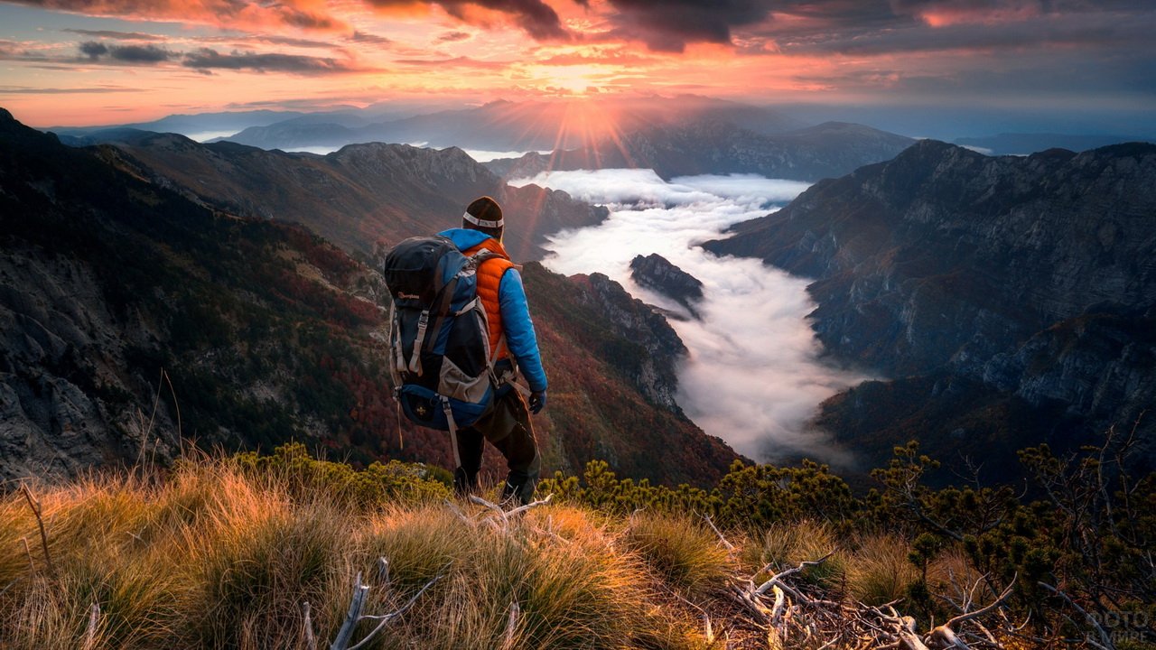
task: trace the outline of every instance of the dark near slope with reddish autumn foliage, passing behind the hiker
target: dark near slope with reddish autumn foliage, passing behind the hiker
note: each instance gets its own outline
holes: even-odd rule
[[[449,465],[444,433],[399,430],[377,272],[298,226],[208,209],[134,169],[120,149],[66,148],[0,113],[0,475],[164,459],[178,433]],[[638,339],[571,306],[584,294],[564,278],[531,265],[526,283],[543,304],[548,470],[592,450],[654,480],[726,470],[725,444],[640,392]]]

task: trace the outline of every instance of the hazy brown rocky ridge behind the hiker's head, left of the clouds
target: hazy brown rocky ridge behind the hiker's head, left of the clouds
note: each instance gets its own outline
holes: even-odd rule
[[[307,226],[346,251],[371,254],[417,232],[461,226],[469,201],[496,198],[507,215],[506,250],[539,259],[549,232],[606,219],[565,192],[511,187],[455,147],[350,145],[327,156],[200,145],[175,134],[118,142],[121,165],[231,213]]]

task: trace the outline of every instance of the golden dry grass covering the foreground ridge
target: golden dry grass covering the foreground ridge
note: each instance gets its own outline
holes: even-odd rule
[[[828,593],[850,585],[868,603],[902,597],[916,576],[902,540],[866,539],[852,554],[815,523],[732,539],[739,548],[728,551],[690,515],[551,504],[499,522],[458,503],[466,522],[422,486],[371,505],[366,490],[346,498],[299,477],[199,458],[163,480],[36,487],[54,571],[23,496],[0,495],[0,648],[297,650],[306,601],[327,647],[361,573],[368,614],[395,611],[436,581],[366,648],[705,650],[706,613],[716,630],[747,634],[734,627],[728,589],[768,564],[837,551],[799,577]],[[962,557],[931,568],[939,583],[973,579]]]

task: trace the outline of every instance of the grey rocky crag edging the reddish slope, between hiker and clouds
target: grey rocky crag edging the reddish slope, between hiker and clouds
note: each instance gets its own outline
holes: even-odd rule
[[[687,346],[662,315],[631,296],[622,285],[601,273],[579,275],[590,288],[586,302],[603,313],[612,330],[623,339],[645,348],[645,356],[631,367],[631,375],[639,390],[651,401],[681,414],[675,401],[679,377],[675,364],[687,354]]]

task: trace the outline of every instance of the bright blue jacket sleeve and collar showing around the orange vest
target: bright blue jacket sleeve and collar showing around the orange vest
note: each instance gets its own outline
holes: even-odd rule
[[[466,228],[451,228],[438,235],[449,237],[460,251],[467,251],[490,238],[480,230]],[[502,310],[502,328],[505,330],[510,354],[518,361],[518,368],[529,383],[529,390],[544,391],[546,370],[542,368],[542,356],[538,349],[534,323],[529,318],[526,289],[521,285],[521,274],[517,268],[511,268],[502,275],[498,286],[498,306]]]

